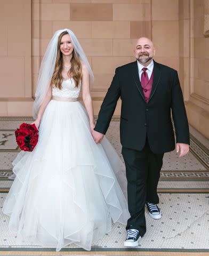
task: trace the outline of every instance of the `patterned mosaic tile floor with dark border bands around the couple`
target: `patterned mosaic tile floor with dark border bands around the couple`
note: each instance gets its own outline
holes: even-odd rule
[[[0,118],[1,207],[6,196],[6,193],[1,193],[1,191],[8,191],[12,185],[12,181],[9,181],[7,177],[12,172],[11,162],[18,154],[14,137],[10,134],[23,121],[29,122],[29,120],[30,118]],[[120,157],[122,157],[119,143],[119,122],[111,122],[107,138],[116,148]],[[1,143],[3,140],[8,141]],[[204,145],[207,146],[206,140],[204,144],[199,143],[194,138],[194,140],[191,140],[190,153],[186,157],[179,158],[175,151],[165,154],[158,185],[159,207],[162,210],[162,219],[153,220],[146,212],[147,233],[140,241],[138,246],[138,253],[140,254],[138,255],[142,255],[142,251],[144,253],[149,251],[149,255],[152,255],[151,252],[158,252],[158,254],[153,255],[170,255],[169,253],[172,253],[173,250],[182,253],[188,252],[187,250],[190,250],[190,253],[198,253],[201,250],[202,252],[205,250],[204,253],[209,252],[209,236],[207,235],[209,233],[209,155],[208,149]],[[32,248],[31,250],[33,251],[42,250],[42,247],[38,245],[28,244],[22,247],[17,244],[15,242],[16,234],[9,231],[8,223],[9,217],[0,211],[0,255],[3,255],[1,251],[10,251],[10,249],[27,251]],[[95,242],[92,245],[92,249],[103,252],[102,255],[110,255],[104,254],[110,249],[112,253],[116,253],[118,250],[125,250],[123,246],[125,235],[125,227],[115,223],[112,225],[112,231]],[[69,253],[73,253],[70,250],[76,250],[74,255],[82,252],[76,245],[70,245],[68,248]],[[168,254],[160,254],[166,250],[169,252]],[[53,249],[50,251],[54,252]],[[43,253],[43,251],[39,252]],[[61,253],[59,255],[62,255]],[[126,250],[125,254],[127,255],[128,253],[131,255],[131,251]],[[90,253],[86,252],[85,255],[90,255]],[[99,254],[97,253],[97,255]]]

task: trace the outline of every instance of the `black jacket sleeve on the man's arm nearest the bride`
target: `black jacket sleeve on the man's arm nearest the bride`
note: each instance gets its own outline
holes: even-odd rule
[[[119,97],[120,87],[118,80],[118,68],[116,68],[115,75],[112,79],[111,85],[107,91],[105,99],[102,102],[98,115],[97,124],[94,127],[95,131],[106,134]]]

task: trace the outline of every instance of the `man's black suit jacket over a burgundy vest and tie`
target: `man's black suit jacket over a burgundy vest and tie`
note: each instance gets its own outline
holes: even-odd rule
[[[106,133],[119,97],[122,100],[120,142],[123,147],[142,150],[148,138],[150,148],[156,154],[175,149],[171,110],[176,142],[189,144],[187,114],[176,70],[154,61],[154,81],[147,103],[137,62],[116,68],[95,131]]]

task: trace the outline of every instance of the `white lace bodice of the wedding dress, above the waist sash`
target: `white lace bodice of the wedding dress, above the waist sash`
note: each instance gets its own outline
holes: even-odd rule
[[[60,90],[57,87],[52,88],[52,95],[58,97],[67,97],[67,98],[78,98],[81,91],[81,84],[78,87],[75,86],[73,78],[63,80],[62,89]]]

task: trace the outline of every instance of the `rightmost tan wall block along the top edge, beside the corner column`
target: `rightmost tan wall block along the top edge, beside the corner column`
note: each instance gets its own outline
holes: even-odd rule
[[[152,0],[152,20],[179,20],[179,0]]]

